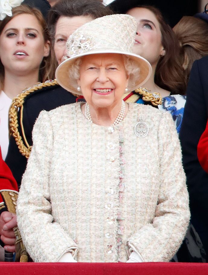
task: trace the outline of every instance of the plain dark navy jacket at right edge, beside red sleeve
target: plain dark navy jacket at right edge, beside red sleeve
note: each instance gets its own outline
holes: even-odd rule
[[[197,144],[208,119],[208,56],[194,62],[179,138],[190,196],[191,222],[208,254],[208,174],[197,158]]]

